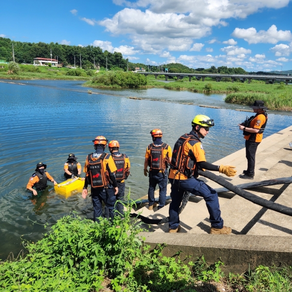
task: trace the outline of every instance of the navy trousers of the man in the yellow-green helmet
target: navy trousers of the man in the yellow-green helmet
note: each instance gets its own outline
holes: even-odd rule
[[[180,183],[178,180],[169,179],[169,183],[171,184],[171,203],[169,204],[168,222],[170,229],[177,229],[179,226],[179,208],[183,201],[184,192],[203,197],[209,211],[211,226],[219,229],[223,228],[218,194],[214,189],[194,177],[187,180],[180,180]],[[196,212],[196,210],[194,210],[194,212]]]

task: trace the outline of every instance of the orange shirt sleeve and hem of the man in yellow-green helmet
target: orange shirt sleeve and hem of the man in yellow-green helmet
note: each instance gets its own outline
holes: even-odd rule
[[[198,163],[202,161],[206,161],[205,157],[205,151],[203,149],[203,146],[201,144],[201,140],[198,137],[198,134],[194,131],[191,131],[190,134],[194,136],[197,140],[190,140],[188,141],[184,147],[183,147],[183,154],[189,157],[193,157],[193,160]],[[177,169],[170,169],[169,170],[169,179],[175,179],[175,180],[187,180],[188,177],[184,175],[183,173],[177,173]]]

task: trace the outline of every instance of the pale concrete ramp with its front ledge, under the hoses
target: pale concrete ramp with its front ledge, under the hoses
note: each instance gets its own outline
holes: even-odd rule
[[[243,139],[242,139],[243,140]],[[257,148],[254,180],[242,180],[238,177],[247,167],[245,148],[227,156],[214,164],[234,165],[237,176],[225,180],[234,185],[260,182],[275,178],[292,176],[292,126],[285,128],[265,139]],[[244,141],[242,142],[244,145]],[[218,172],[215,174],[219,174]],[[213,188],[221,186],[199,177]],[[279,184],[249,189],[249,192],[279,204],[292,207],[292,184]],[[170,195],[170,185],[167,187]],[[158,198],[158,191],[155,196]],[[161,219],[168,216],[167,201],[164,208],[148,210],[147,205],[135,213]],[[204,255],[210,264],[221,259],[225,262],[225,271],[244,272],[259,264],[292,264],[292,217],[267,210],[247,201],[232,192],[219,193],[221,217],[224,225],[232,228],[232,235],[209,235],[210,222],[205,201],[201,197],[190,197],[180,215],[182,230],[169,234],[168,223],[146,225],[149,232],[143,233],[146,243],[153,247],[157,243],[166,243],[164,253],[173,255],[182,251],[185,256]]]

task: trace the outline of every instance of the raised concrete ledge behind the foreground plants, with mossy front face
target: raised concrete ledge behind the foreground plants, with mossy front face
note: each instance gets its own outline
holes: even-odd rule
[[[244,273],[255,269],[258,265],[292,264],[292,244],[289,237],[269,236],[226,236],[204,234],[173,234],[143,232],[145,243],[152,248],[160,244],[167,244],[163,250],[164,256],[174,256],[181,252],[181,258],[192,256],[190,260],[197,260],[204,256],[207,264],[223,261],[222,270],[225,273]]]

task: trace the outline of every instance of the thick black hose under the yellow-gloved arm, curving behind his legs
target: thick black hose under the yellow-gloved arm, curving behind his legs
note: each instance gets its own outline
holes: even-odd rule
[[[222,185],[223,187],[227,188],[228,190],[234,192],[239,197],[242,197],[243,199],[251,201],[256,205],[262,206],[264,208],[273,210],[273,211],[281,213],[281,214],[292,216],[292,208],[286,207],[286,206],[278,204],[278,203],[274,203],[272,201],[268,201],[266,199],[262,199],[262,198],[254,195],[250,192],[247,192],[247,191],[237,187],[236,185],[233,185],[232,183],[229,183],[228,181],[225,181],[224,179],[222,179],[221,177],[219,177],[218,175],[216,175],[210,171],[199,170],[199,175]],[[179,214],[182,213],[185,205],[187,204],[187,202],[189,200],[189,197],[190,197],[189,193],[185,192],[183,194],[183,201],[182,201],[182,204],[179,208]],[[138,215],[135,213],[131,213],[130,217],[140,219],[141,221],[143,221],[146,224],[163,224],[163,223],[166,223],[169,221],[169,217],[166,217],[163,219],[151,219],[151,218],[148,218],[148,217],[145,217],[142,215]]]

